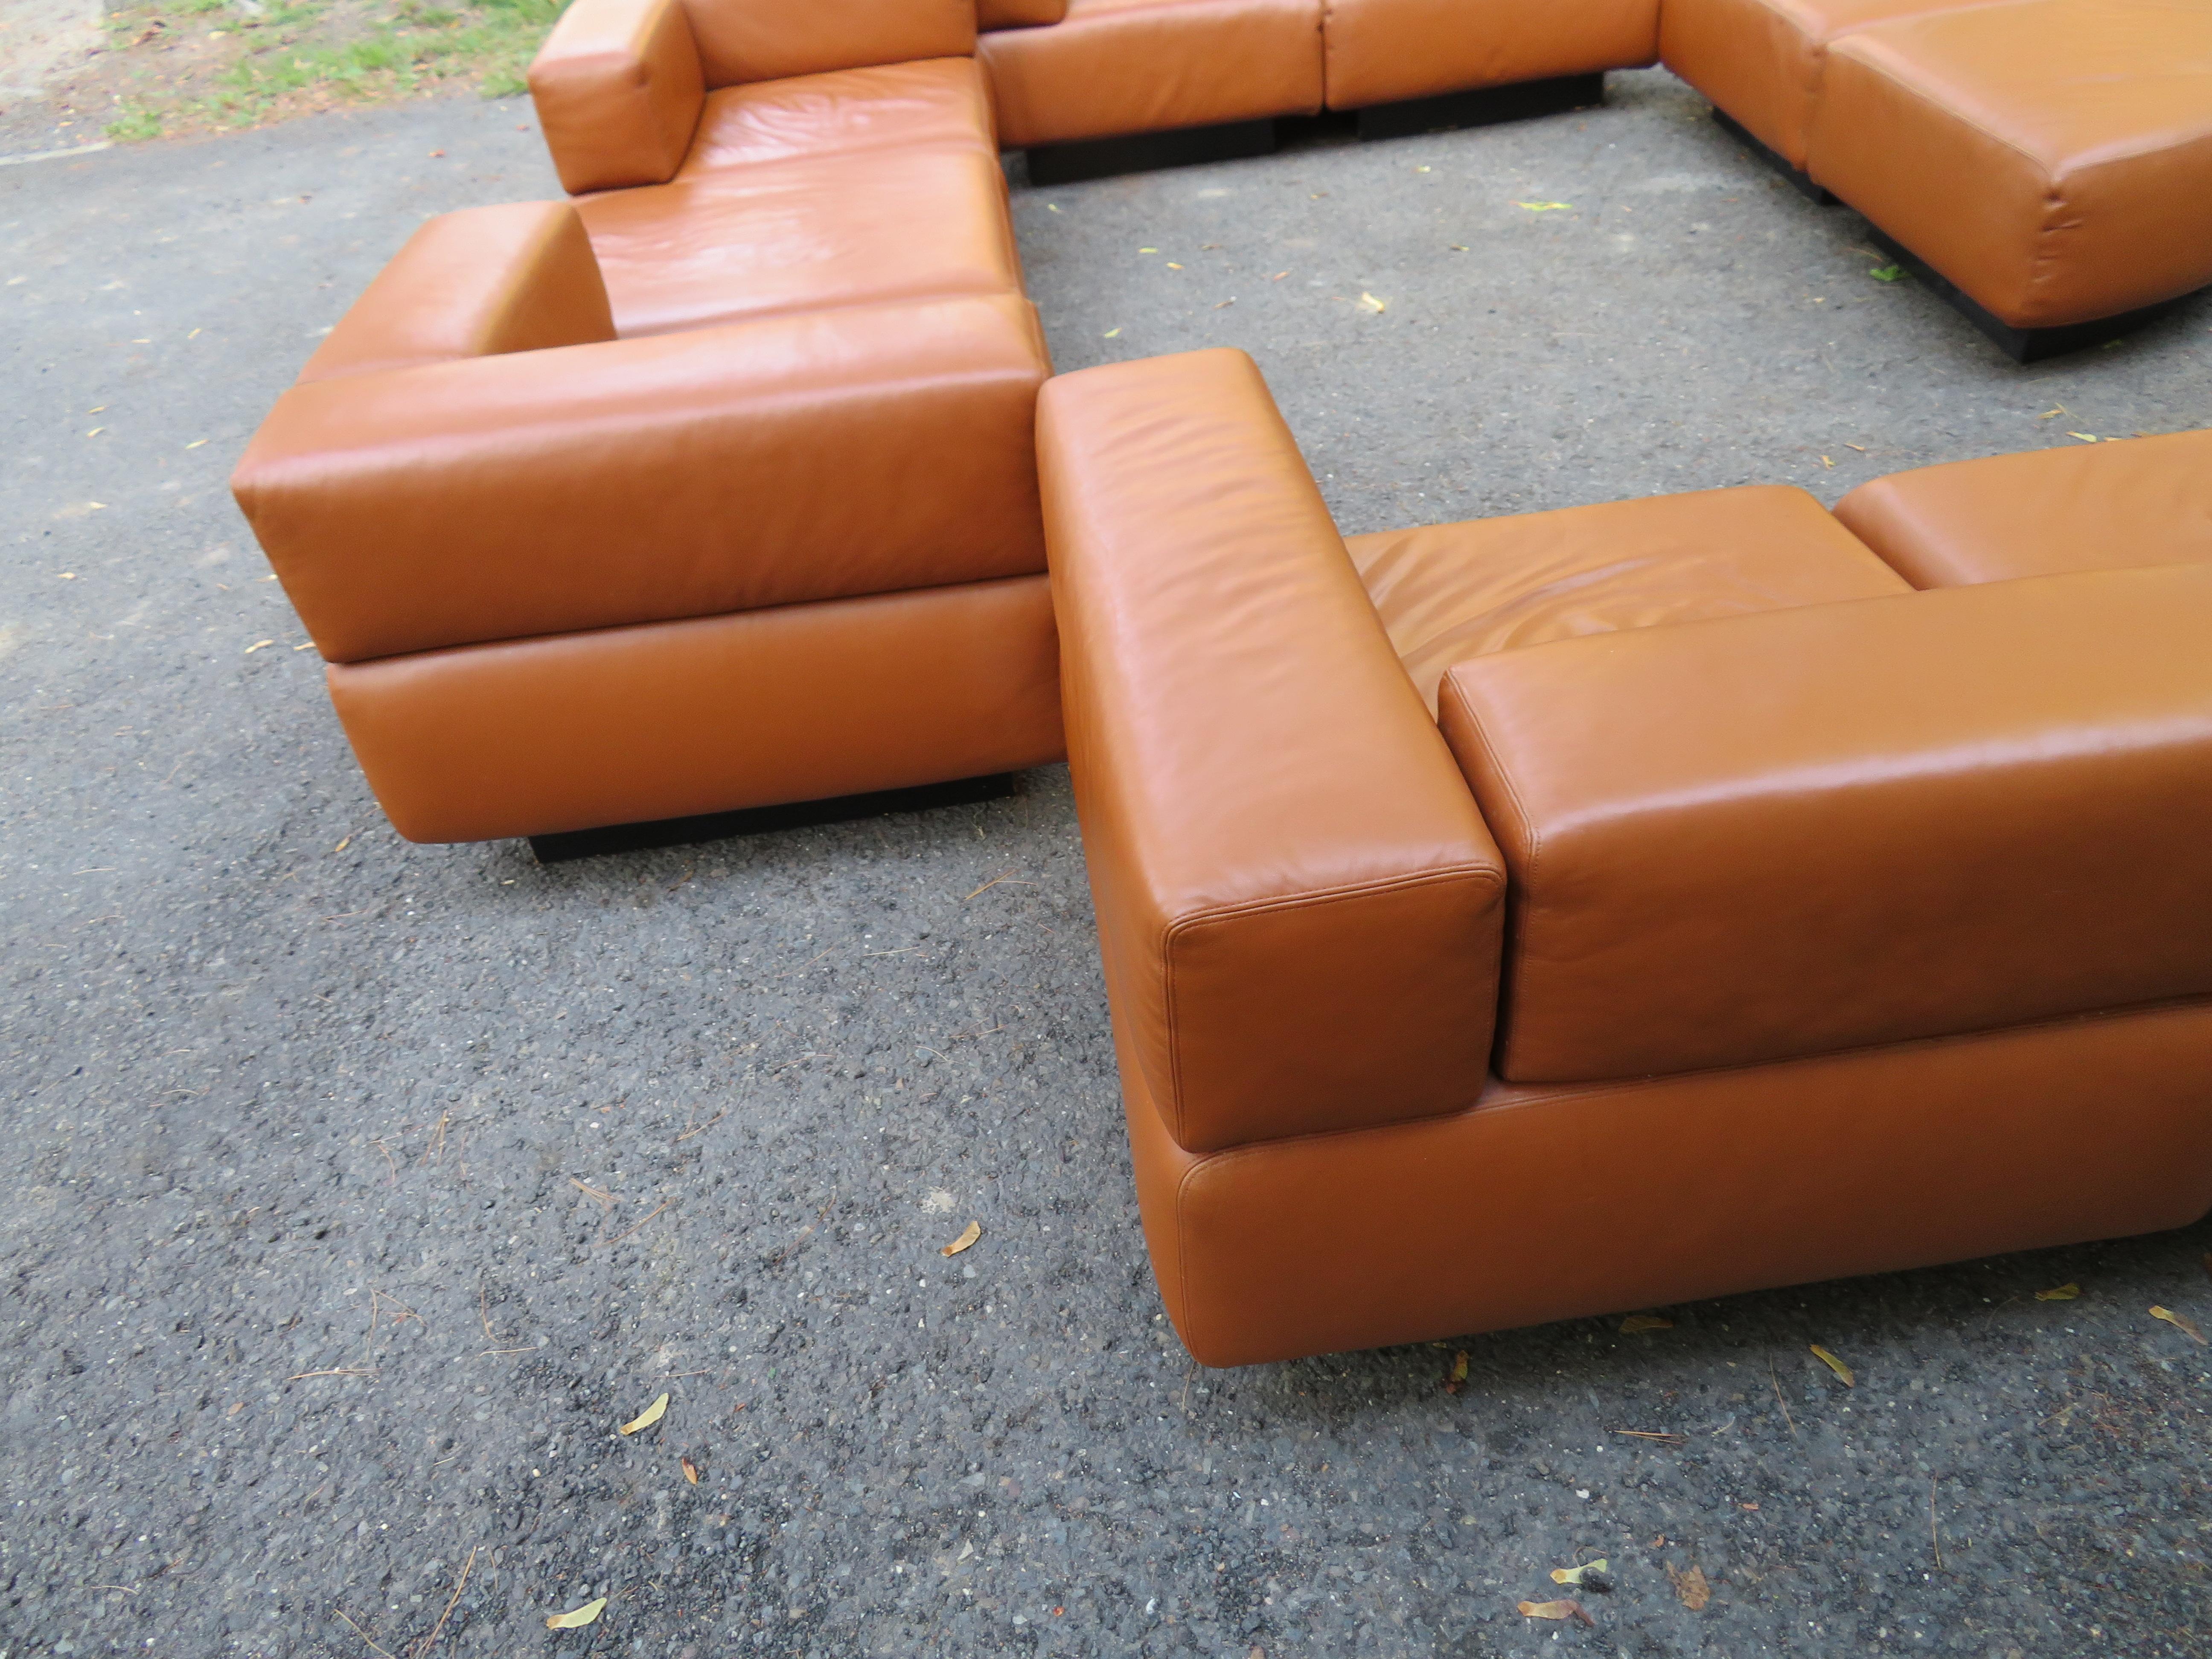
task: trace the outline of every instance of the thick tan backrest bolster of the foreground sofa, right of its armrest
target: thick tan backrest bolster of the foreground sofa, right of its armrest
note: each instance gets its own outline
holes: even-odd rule
[[[1460,664],[1513,869],[1500,1071],[1794,1060],[2212,993],[2212,566]]]

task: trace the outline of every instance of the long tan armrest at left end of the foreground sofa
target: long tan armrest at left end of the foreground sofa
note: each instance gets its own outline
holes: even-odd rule
[[[1068,374],[1037,447],[1106,989],[1168,1133],[1464,1108],[1504,869],[1259,369]]]

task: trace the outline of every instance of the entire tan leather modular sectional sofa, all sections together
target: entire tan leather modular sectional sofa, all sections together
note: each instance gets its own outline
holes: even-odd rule
[[[1214,1365],[2212,1206],[2212,434],[1345,540],[1241,354],[1048,378],[998,159],[1663,49],[2073,327],[2212,276],[2208,4],[980,7],[580,0],[573,199],[429,221],[279,398],[237,495],[400,834],[1066,752]]]

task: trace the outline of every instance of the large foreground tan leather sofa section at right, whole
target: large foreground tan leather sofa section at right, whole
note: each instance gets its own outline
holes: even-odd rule
[[[1051,383],[1040,453],[1201,1360],[2212,1208],[2212,434],[1347,542],[1201,352]]]

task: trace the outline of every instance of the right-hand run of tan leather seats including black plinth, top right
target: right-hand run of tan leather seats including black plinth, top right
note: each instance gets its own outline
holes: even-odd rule
[[[1661,0],[1661,58],[2020,361],[2212,281],[2212,0]]]

